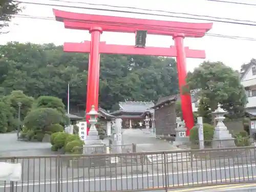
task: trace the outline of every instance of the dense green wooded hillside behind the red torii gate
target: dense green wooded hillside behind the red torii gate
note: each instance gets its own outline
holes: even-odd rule
[[[67,106],[70,83],[71,113],[84,111],[87,97],[88,54],[65,53],[53,44],[0,46],[0,96],[24,94],[58,97]],[[154,101],[178,93],[173,58],[137,55],[100,55],[99,106],[106,110],[119,101]]]

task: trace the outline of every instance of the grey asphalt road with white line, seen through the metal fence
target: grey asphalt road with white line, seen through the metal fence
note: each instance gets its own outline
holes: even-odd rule
[[[165,181],[166,180],[166,181]],[[79,192],[79,191],[114,191],[131,189],[162,188],[167,182],[168,187],[196,186],[199,184],[212,183],[234,183],[256,180],[256,167],[254,165],[244,165],[231,168],[217,168],[207,170],[194,170],[190,172],[169,173],[165,178],[163,174],[136,175],[123,177],[101,177],[95,179],[62,179],[59,181],[29,181],[24,183],[14,183],[13,192]],[[9,192],[11,185],[0,184],[0,191]]]

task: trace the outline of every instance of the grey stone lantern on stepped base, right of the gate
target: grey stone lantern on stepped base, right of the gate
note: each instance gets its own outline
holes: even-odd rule
[[[214,131],[214,138],[212,141],[212,148],[232,147],[235,146],[234,138],[227,130],[227,127],[223,123],[225,119],[224,114],[226,112],[221,109],[221,104],[218,104],[218,109],[213,112],[216,115],[217,125]]]

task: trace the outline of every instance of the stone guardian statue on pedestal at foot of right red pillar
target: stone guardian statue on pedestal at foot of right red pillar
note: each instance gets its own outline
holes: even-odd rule
[[[176,118],[176,137],[175,141],[173,142],[174,145],[182,145],[188,142],[189,138],[186,136],[186,125],[184,121],[181,121],[180,117]]]

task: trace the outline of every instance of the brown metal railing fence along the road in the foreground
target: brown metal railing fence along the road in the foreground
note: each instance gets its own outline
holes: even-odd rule
[[[0,157],[21,163],[19,182],[4,192],[132,191],[255,181],[256,147],[205,150]],[[153,161],[154,158],[159,158]]]

